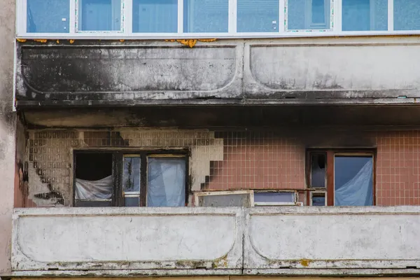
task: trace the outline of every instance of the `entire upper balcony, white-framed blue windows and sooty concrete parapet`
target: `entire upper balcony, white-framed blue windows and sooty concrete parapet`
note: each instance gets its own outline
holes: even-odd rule
[[[18,1],[18,108],[420,96],[414,1],[56,0],[53,15],[49,2]]]

